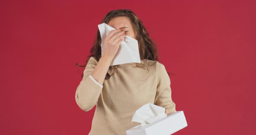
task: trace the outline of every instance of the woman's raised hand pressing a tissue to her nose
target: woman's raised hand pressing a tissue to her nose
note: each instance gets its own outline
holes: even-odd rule
[[[118,51],[118,48],[122,41],[125,31],[119,29],[112,30],[104,40],[104,49],[102,57],[113,59]]]

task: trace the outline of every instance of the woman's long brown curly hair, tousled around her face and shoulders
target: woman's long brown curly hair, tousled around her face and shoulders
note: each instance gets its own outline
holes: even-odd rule
[[[135,30],[135,37],[138,40],[138,47],[139,47],[139,53],[140,53],[140,58],[141,60],[146,59],[146,64],[147,64],[147,59],[148,60],[152,60],[155,61],[152,65],[156,64],[158,60],[158,49],[157,46],[155,45],[155,43],[149,38],[148,32],[146,31],[146,29],[144,28],[141,20],[135,15],[134,12],[132,12],[131,10],[128,9],[123,9],[123,10],[112,10],[110,12],[107,13],[107,15],[104,17],[104,19],[102,20],[101,23],[106,23],[108,24],[108,22],[114,18],[114,17],[118,17],[118,16],[126,16],[131,20],[131,25],[133,26],[133,29]],[[91,50],[90,50],[90,55],[87,56],[87,62],[89,61],[90,57],[94,57],[97,61],[99,61],[99,59],[101,58],[101,35],[100,32],[98,30],[97,32],[97,37],[95,39],[95,43],[92,46]],[[79,65],[78,63],[75,64],[75,66],[79,66],[79,67],[85,67],[85,65]],[[145,64],[142,63],[136,63],[137,67],[140,67],[140,65],[145,66],[148,70],[148,67]],[[148,64],[147,64],[148,65]],[[152,65],[148,65],[148,66],[152,66]],[[115,72],[117,71],[119,65],[114,65],[114,66],[109,66],[109,69],[114,69],[113,74],[115,74]],[[144,67],[141,67],[144,68]],[[149,73],[149,71],[148,71]],[[109,75],[108,73],[105,76],[105,79],[110,79],[110,77],[113,75]],[[168,75],[170,75],[167,72]],[[83,74],[81,75],[81,77],[83,77]]]

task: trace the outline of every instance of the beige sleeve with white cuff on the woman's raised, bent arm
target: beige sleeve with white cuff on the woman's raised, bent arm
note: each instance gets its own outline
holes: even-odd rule
[[[77,105],[86,112],[96,105],[103,88],[103,85],[99,84],[91,76],[91,73],[97,63],[98,61],[94,57],[89,58],[89,61],[85,66],[85,70],[83,71],[83,78],[75,91],[75,101]]]

